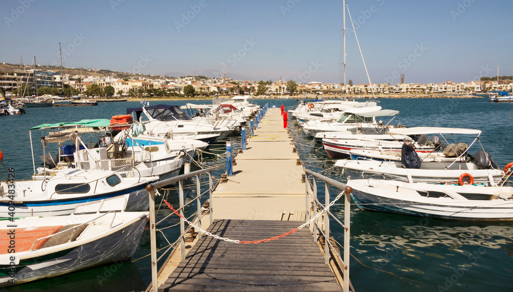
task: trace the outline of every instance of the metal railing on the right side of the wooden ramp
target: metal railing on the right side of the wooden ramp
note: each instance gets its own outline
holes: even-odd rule
[[[306,218],[306,221],[308,221],[310,218],[313,218],[315,216],[317,216],[317,206],[318,204],[320,206],[322,206],[321,202],[318,200],[317,198],[317,179],[320,179],[322,181],[324,181],[324,185],[325,185],[325,199],[324,199],[324,204],[325,204],[325,211],[326,213],[324,214],[324,231],[322,230],[322,227],[320,228],[317,224],[317,220],[315,220],[313,222],[313,241],[315,243],[317,243],[318,241],[318,238],[317,238],[317,235],[318,235],[318,232],[324,236],[324,258],[325,258],[325,263],[326,264],[329,264],[329,247],[331,246],[331,251],[333,252],[333,255],[335,255],[339,260],[340,262],[342,263],[342,265],[344,266],[344,271],[343,271],[343,274],[344,274],[344,291],[349,291],[349,286],[350,286],[350,281],[349,281],[349,248],[350,248],[350,242],[349,242],[349,235],[350,235],[350,219],[351,219],[351,216],[350,216],[350,210],[351,210],[351,192],[352,192],[352,188],[343,184],[343,183],[340,183],[336,180],[333,180],[333,179],[330,179],[328,177],[325,177],[323,176],[322,174],[319,174],[317,172],[313,172],[309,169],[304,169],[305,170],[305,173],[306,173],[306,178],[305,178],[305,200],[306,200],[306,213],[307,213],[307,218]],[[313,210],[312,210],[312,213],[310,212],[310,200],[308,199],[309,197],[309,194],[308,194],[308,186],[310,184],[310,179],[309,179],[309,175],[312,176],[312,190],[313,190],[313,193],[311,195],[312,199],[313,199]],[[334,217],[330,211],[329,211],[329,205],[330,205],[330,198],[329,198],[329,188],[330,186],[333,186],[333,187],[336,187],[338,189],[340,189],[342,192],[344,192],[344,224],[342,224],[336,217]],[[329,231],[329,216],[332,216],[339,224],[342,225],[342,227],[344,228],[344,260],[341,259],[340,257],[340,254],[336,251],[336,248],[329,242],[329,234],[330,234],[330,231]]]

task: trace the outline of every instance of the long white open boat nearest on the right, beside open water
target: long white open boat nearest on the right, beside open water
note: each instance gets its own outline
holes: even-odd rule
[[[349,180],[361,209],[458,220],[513,220],[513,187]]]

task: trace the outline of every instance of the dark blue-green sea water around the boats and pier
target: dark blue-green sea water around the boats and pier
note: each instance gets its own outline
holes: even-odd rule
[[[159,103],[183,105],[193,101],[166,101]],[[295,100],[256,100],[254,103],[270,106],[285,105],[294,108]],[[208,101],[200,101],[208,103]],[[152,105],[157,102],[152,102]],[[462,127],[483,131],[480,142],[484,149],[500,165],[513,161],[513,104],[489,103],[486,99],[385,99],[380,106],[396,109],[400,114],[394,122],[410,127]],[[15,167],[16,178],[29,178],[32,160],[29,129],[44,123],[71,122],[81,119],[109,119],[124,114],[128,107],[138,103],[100,103],[97,107],[30,108],[19,116],[0,116],[0,150],[4,163]],[[334,160],[327,157],[321,145],[306,139],[294,121],[289,122],[291,132],[302,160],[309,169],[345,181],[340,171],[333,168]],[[35,156],[42,155],[41,133],[32,134]],[[458,137],[460,138],[460,137]],[[461,137],[465,139],[465,137]],[[467,141],[471,142],[467,137]],[[239,147],[236,135],[228,140]],[[476,147],[477,146],[477,147]],[[479,150],[479,145],[473,148]],[[224,142],[214,145],[209,152],[220,154]],[[472,153],[472,152],[471,152]],[[214,176],[224,171],[224,158],[205,153],[202,163],[218,166]],[[473,153],[472,153],[473,154]],[[36,158],[36,167],[40,166]],[[194,181],[185,185],[195,185]],[[323,189],[323,188],[321,188]],[[336,194],[331,193],[331,199]],[[167,199],[178,201],[175,189],[170,189]],[[321,196],[320,198],[323,198]],[[186,191],[186,200],[195,198],[193,189]],[[170,211],[157,202],[157,220]],[[192,215],[192,205],[187,210]],[[343,208],[336,205],[333,212],[342,218]],[[513,283],[513,223],[510,222],[460,222],[438,219],[393,215],[351,209],[351,281],[358,291],[511,291]],[[179,221],[172,217],[163,226]],[[332,221],[334,238],[343,242],[343,231]],[[161,248],[167,241],[174,242],[179,236],[177,226],[162,230],[157,241]],[[142,291],[151,281],[149,257],[149,233],[143,240],[131,262],[97,267],[74,274],[7,288],[7,291]],[[159,253],[160,256],[160,253]],[[164,256],[165,259],[167,257]],[[162,262],[162,261],[161,261]]]

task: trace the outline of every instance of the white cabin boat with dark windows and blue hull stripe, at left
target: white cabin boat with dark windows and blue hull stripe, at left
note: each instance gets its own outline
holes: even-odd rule
[[[69,215],[83,203],[124,197],[126,211],[148,208],[147,184],[159,177],[123,178],[115,171],[63,169],[43,180],[16,180],[0,183],[0,218],[9,217],[9,202],[14,202],[16,217]],[[15,196],[9,197],[13,189]]]

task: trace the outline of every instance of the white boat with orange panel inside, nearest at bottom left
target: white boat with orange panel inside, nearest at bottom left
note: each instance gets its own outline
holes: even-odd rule
[[[77,206],[68,216],[0,221],[0,287],[132,258],[148,212],[124,212],[122,203],[126,202],[114,203],[102,200],[97,206]],[[9,248],[12,238],[15,248]]]

